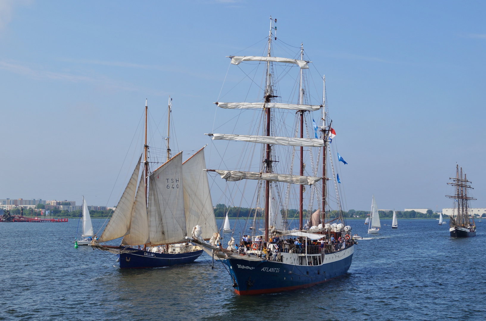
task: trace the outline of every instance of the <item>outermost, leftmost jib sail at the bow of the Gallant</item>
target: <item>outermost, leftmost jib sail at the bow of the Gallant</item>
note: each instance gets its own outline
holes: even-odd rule
[[[137,189],[137,179],[139,177],[140,161],[142,156],[140,155],[139,162],[133,171],[132,177],[128,181],[128,184],[121,195],[120,202],[118,202],[115,212],[111,216],[111,219],[106,224],[104,231],[98,240],[98,242],[109,241],[118,237],[125,236],[130,230],[130,220],[132,218],[133,202],[135,200],[135,190]]]

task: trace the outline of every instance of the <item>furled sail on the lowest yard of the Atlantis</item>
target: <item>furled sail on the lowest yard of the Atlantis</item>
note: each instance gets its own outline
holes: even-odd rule
[[[299,185],[312,185],[321,180],[322,177],[312,176],[299,176],[299,175],[287,175],[287,174],[275,174],[275,173],[259,173],[254,171],[240,171],[240,170],[223,170],[216,169],[221,178],[226,181],[236,182],[243,179],[247,180],[264,180],[271,182],[282,182]]]

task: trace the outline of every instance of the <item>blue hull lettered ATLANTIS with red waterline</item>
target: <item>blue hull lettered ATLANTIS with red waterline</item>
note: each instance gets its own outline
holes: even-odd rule
[[[335,253],[330,263],[316,266],[293,265],[275,261],[223,259],[229,267],[233,287],[239,295],[278,293],[312,287],[331,278],[343,275],[351,266],[354,246]],[[330,257],[331,258],[331,257]]]

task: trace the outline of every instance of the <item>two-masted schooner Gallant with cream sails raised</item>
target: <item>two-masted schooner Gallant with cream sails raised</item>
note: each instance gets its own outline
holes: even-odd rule
[[[149,161],[147,111],[145,104],[143,153],[102,235],[91,243],[95,248],[116,254],[121,269],[190,263],[203,252],[185,239],[192,234],[192,227],[198,225],[206,231],[200,233],[202,239],[209,239],[211,231],[217,228],[205,171],[204,147],[183,163],[182,152],[171,157],[168,129],[164,137],[167,161],[151,170],[149,164],[156,162]],[[169,122],[170,115],[171,100]],[[123,237],[120,246],[100,244],[119,237]]]

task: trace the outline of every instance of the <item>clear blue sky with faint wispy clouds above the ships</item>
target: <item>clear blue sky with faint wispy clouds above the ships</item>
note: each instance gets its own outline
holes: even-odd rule
[[[279,39],[303,42],[326,74],[348,209],[369,210],[372,194],[379,208],[450,207],[456,162],[473,181],[472,205],[486,206],[485,9],[481,1],[1,0],[0,198],[84,194],[116,204],[145,99],[163,127],[173,97],[179,149],[210,143],[203,134],[225,56],[263,39],[272,15]]]

